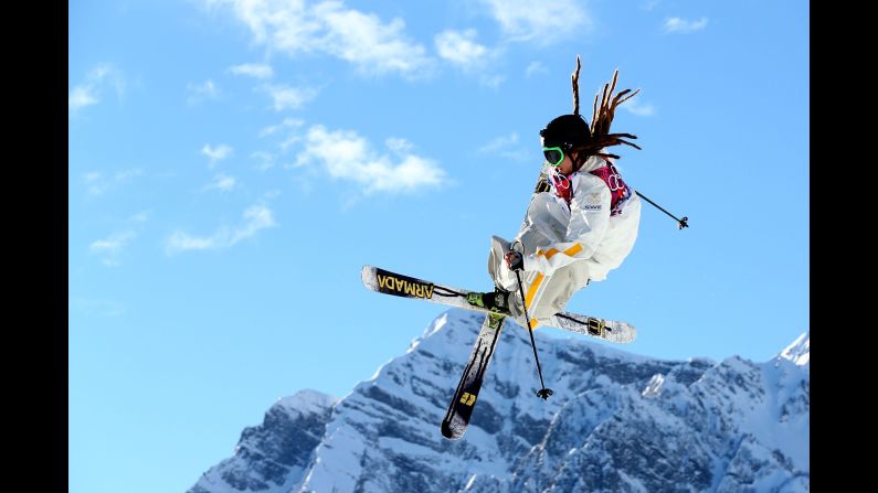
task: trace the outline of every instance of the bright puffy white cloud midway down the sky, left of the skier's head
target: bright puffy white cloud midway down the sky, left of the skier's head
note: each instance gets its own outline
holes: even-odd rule
[[[317,125],[308,130],[305,150],[298,154],[296,165],[318,164],[334,179],[361,185],[366,194],[414,192],[445,183],[445,171],[432,160],[411,153],[406,146],[400,146],[402,140],[390,142],[393,152],[404,150],[395,160],[377,152],[353,131],[331,131]]]

